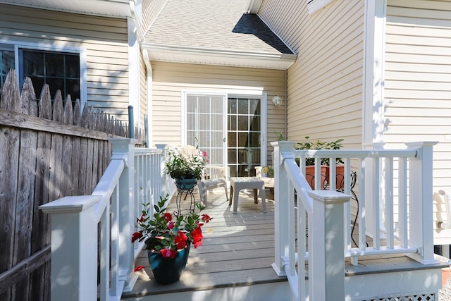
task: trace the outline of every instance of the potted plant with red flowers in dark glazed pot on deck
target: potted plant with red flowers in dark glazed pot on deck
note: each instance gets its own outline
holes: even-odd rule
[[[166,210],[167,201],[168,195],[160,197],[152,216],[149,215],[150,204],[143,204],[142,214],[135,222],[137,231],[132,234],[132,242],[145,242],[152,273],[161,284],[180,279],[190,246],[197,248],[202,245],[202,226],[212,219],[207,214],[201,214],[204,207],[200,203],[196,204],[198,212],[185,216],[173,215]],[[139,268],[142,269],[142,266]]]

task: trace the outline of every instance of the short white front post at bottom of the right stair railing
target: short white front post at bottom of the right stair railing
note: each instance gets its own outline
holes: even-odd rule
[[[309,235],[309,300],[345,300],[344,208],[350,195],[335,190],[309,191],[314,235]]]

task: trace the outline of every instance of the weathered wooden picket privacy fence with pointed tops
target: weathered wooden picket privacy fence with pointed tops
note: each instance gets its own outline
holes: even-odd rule
[[[50,299],[49,216],[38,207],[90,195],[111,158],[108,138],[125,137],[106,113],[63,103],[59,91],[51,100],[47,85],[38,100],[34,91],[27,78],[20,92],[11,70],[0,99],[0,300]]]

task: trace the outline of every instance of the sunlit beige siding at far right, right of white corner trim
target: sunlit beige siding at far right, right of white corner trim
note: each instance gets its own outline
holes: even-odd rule
[[[435,191],[451,191],[450,16],[451,1],[388,1],[384,141],[438,141]]]

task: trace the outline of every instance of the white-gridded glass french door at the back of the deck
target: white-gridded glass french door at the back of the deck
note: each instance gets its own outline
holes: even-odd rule
[[[186,94],[186,144],[207,152],[209,164],[228,166],[230,177],[255,176],[266,156],[261,104],[259,97]]]

